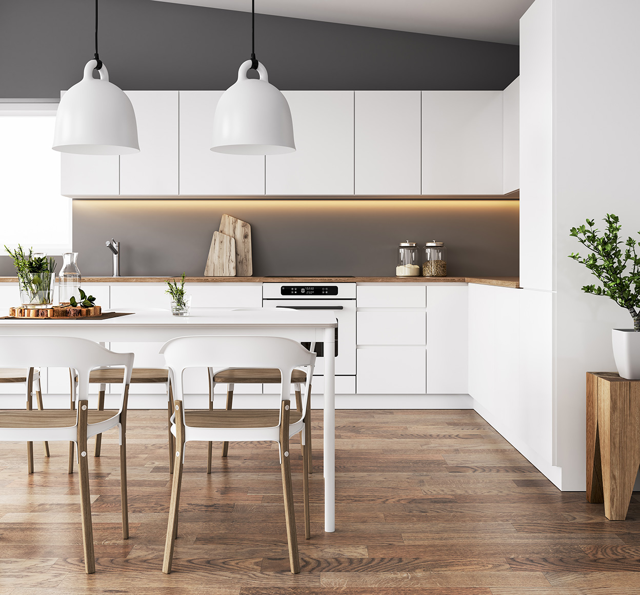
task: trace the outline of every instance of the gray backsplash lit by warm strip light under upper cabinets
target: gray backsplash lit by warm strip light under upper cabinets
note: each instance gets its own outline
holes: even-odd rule
[[[115,238],[122,275],[202,275],[223,213],[251,224],[256,277],[390,277],[404,240],[444,241],[451,276],[518,275],[518,200],[74,200],[78,266],[111,275]]]

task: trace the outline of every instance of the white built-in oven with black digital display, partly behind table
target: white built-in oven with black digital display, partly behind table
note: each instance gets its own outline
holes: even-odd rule
[[[335,373],[356,373],[356,284],[355,283],[264,283],[263,307],[298,310],[332,310],[335,329]],[[303,343],[303,345],[305,345]],[[305,345],[307,349],[309,344]],[[324,345],[316,343],[315,374],[324,374]]]

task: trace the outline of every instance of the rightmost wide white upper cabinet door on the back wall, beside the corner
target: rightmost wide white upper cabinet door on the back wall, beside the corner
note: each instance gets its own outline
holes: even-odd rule
[[[422,92],[422,194],[502,194],[502,93]]]

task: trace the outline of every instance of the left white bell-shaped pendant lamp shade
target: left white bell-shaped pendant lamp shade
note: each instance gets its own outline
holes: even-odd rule
[[[82,155],[137,153],[138,126],[131,101],[109,83],[104,64],[100,78],[93,78],[96,66],[97,61],[89,60],[83,79],[61,97],[52,148]]]

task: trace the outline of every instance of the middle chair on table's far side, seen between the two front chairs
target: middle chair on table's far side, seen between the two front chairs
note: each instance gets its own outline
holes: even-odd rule
[[[89,376],[90,384],[99,384],[98,393],[98,411],[104,409],[104,393],[106,393],[107,384],[122,384],[124,370],[122,368],[101,368],[100,370],[92,370]],[[74,395],[77,386],[77,376],[71,377],[71,408],[74,407]],[[75,379],[75,382],[74,382]],[[166,368],[133,368],[131,371],[131,384],[164,384],[167,394],[167,421],[169,436],[169,472],[173,473],[173,452],[175,445],[173,443],[173,434],[171,433],[171,422],[169,421],[173,414],[173,393],[171,383],[169,382],[169,371]],[[95,456],[100,456],[102,448],[102,434],[95,437]],[[70,445],[69,452],[69,473],[73,472],[74,457],[73,444]]]

